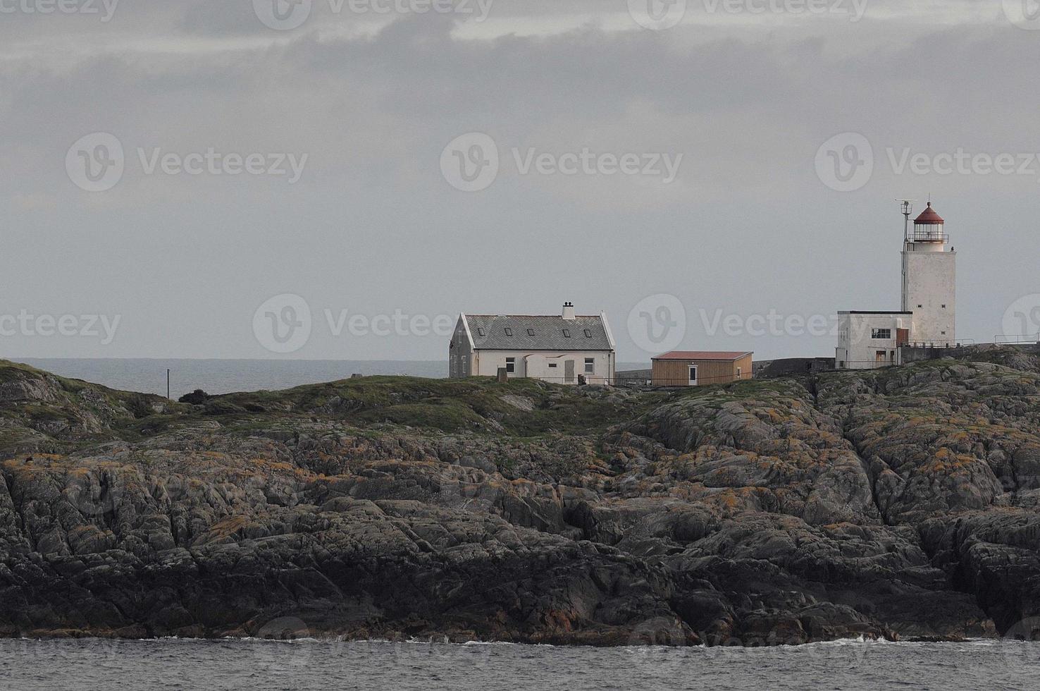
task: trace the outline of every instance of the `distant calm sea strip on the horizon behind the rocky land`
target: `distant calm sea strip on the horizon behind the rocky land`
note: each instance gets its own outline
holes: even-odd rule
[[[179,399],[202,389],[207,393],[234,393],[321,384],[349,379],[352,375],[408,375],[443,379],[447,360],[155,360],[155,359],[42,359],[6,358],[70,379],[82,379],[122,391]],[[621,363],[618,369],[638,369],[647,364]]]

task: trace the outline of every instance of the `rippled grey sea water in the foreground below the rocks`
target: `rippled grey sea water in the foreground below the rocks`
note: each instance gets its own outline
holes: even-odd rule
[[[296,640],[6,640],[0,689],[185,691],[1040,688],[1040,643],[839,641],[780,647]]]

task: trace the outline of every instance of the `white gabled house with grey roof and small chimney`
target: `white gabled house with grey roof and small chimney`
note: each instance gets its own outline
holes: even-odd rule
[[[566,303],[560,315],[460,314],[448,348],[453,379],[510,377],[556,384],[614,381],[617,361],[606,315],[578,316]]]

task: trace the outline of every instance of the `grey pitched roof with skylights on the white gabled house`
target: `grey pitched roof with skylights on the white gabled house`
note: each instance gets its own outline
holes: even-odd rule
[[[466,314],[473,348],[478,351],[613,351],[599,316],[494,316]],[[506,329],[513,333],[508,335]],[[564,330],[570,333],[570,337]],[[534,335],[531,335],[534,332]]]

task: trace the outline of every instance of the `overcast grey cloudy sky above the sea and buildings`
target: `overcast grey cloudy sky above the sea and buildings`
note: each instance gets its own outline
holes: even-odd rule
[[[0,0],[0,357],[447,356],[460,312],[1040,332],[1034,0]]]

